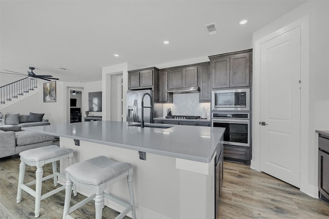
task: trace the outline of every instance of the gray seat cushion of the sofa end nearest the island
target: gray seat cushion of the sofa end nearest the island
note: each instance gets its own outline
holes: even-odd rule
[[[43,141],[52,141],[55,137],[36,132],[22,131],[16,132],[16,146],[40,143]]]

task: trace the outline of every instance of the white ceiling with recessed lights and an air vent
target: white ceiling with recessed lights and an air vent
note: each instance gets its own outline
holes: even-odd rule
[[[249,49],[254,31],[304,2],[1,0],[0,70],[32,66],[36,75],[91,82],[119,63],[148,67]]]

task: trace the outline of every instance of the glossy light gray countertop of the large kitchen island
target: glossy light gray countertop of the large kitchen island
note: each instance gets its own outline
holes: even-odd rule
[[[162,129],[131,124],[136,123],[93,121],[22,127],[22,130],[205,163],[211,161],[225,131],[221,127],[161,124],[169,126]]]

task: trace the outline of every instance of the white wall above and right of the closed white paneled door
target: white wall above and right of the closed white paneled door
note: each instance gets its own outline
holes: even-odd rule
[[[306,142],[308,149],[302,152],[305,156],[301,157],[301,190],[314,197],[318,196],[318,135],[315,130],[329,130],[329,92],[327,87],[329,72],[326,64],[329,60],[327,53],[329,49],[328,8],[329,2],[327,1],[306,2],[253,34],[253,42],[255,42],[284,26],[302,19],[302,17],[309,17],[309,79],[301,79],[302,89],[303,86],[309,87],[308,94],[302,96],[302,98],[309,100],[307,108],[304,109],[304,111],[309,112],[306,115],[309,124],[306,127],[308,129],[307,136],[302,136],[304,139],[308,139]],[[301,40],[303,43],[308,39],[306,37]],[[301,119],[305,120],[305,118]],[[257,152],[253,150],[253,156],[255,153]]]

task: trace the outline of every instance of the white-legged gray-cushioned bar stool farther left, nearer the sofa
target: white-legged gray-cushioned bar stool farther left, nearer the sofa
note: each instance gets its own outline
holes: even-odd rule
[[[40,216],[40,202],[44,198],[49,197],[59,191],[65,189],[65,186],[61,186],[57,189],[54,189],[46,194],[41,195],[42,181],[50,179],[53,177],[54,186],[58,185],[58,177],[65,178],[64,174],[57,172],[57,160],[68,158],[68,165],[73,164],[73,150],[72,149],[63,149],[57,145],[49,145],[46,147],[35,148],[20,153],[21,164],[20,164],[20,174],[19,174],[19,185],[17,187],[17,197],[16,203],[20,203],[22,199],[22,190],[26,191],[33,197],[35,197],[35,217]],[[46,163],[52,162],[52,174],[43,177],[43,166]],[[35,166],[35,180],[24,184],[24,175],[26,165]],[[29,186],[35,184],[35,191],[32,190]],[[74,186],[74,195],[77,195],[76,187]]]

